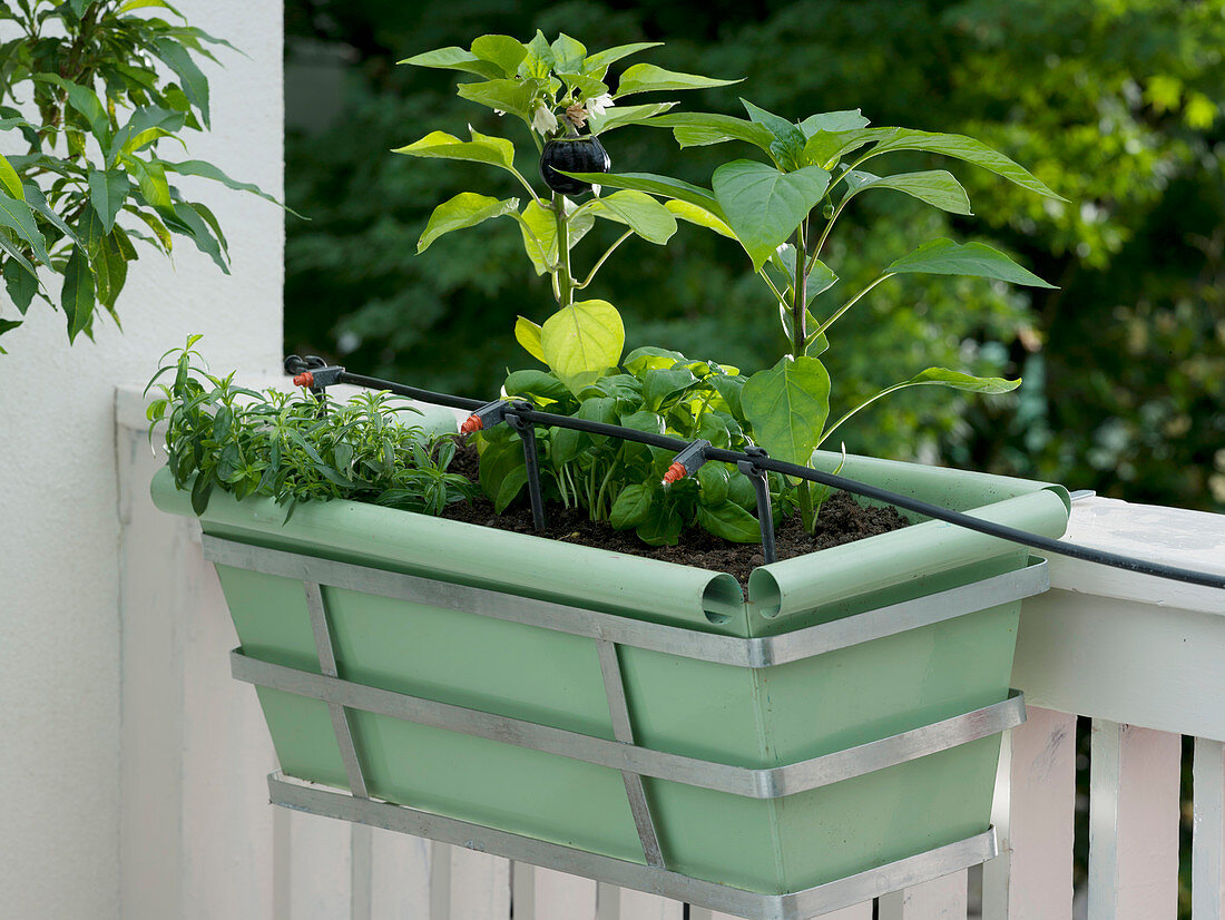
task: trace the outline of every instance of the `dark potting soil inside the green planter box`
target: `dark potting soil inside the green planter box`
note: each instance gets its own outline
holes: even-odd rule
[[[448,472],[478,481],[477,450],[461,443]],[[606,521],[590,521],[586,511],[567,508],[560,502],[549,503],[545,516],[548,527],[544,533],[537,533],[532,526],[532,508],[526,500],[517,501],[502,515],[495,515],[494,503],[484,495],[472,502],[451,505],[443,513],[451,521],[728,572],[739,578],[741,586],[747,586],[753,568],[766,562],[760,544],[730,543],[701,528],[685,530],[676,546],[648,546],[633,530],[616,530]],[[775,527],[774,546],[780,560],[791,559],[899,530],[908,523],[897,508],[865,507],[850,494],[837,491],[821,506],[813,534],[805,533],[800,516],[793,515]]]

